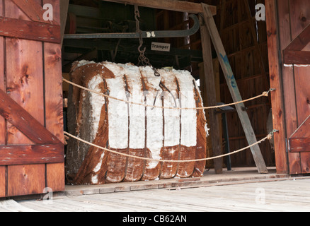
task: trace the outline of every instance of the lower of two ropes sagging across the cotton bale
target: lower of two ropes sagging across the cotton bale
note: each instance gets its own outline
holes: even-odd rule
[[[95,148],[99,148],[101,150],[105,150],[105,151],[108,151],[110,153],[115,153],[117,155],[122,155],[122,156],[125,156],[125,157],[132,157],[132,158],[136,158],[136,159],[140,159],[140,160],[149,160],[149,161],[156,161],[156,162],[202,162],[202,161],[206,161],[206,160],[214,160],[214,159],[217,159],[217,158],[220,158],[220,157],[226,157],[226,156],[229,156],[229,155],[234,155],[236,153],[240,153],[241,151],[243,150],[247,150],[248,148],[251,148],[255,145],[258,145],[259,143],[262,143],[266,140],[271,140],[273,134],[277,132],[277,130],[273,130],[272,132],[270,132],[268,134],[268,136],[266,136],[265,138],[261,139],[260,141],[256,142],[256,143],[253,143],[252,145],[248,145],[246,148],[241,148],[239,150],[235,150],[234,152],[231,152],[231,153],[227,153],[227,154],[224,154],[224,155],[219,155],[219,156],[215,156],[215,157],[207,157],[207,158],[202,158],[202,159],[199,159],[199,160],[155,160],[155,159],[152,159],[152,158],[149,158],[149,157],[139,157],[139,156],[134,156],[134,155],[128,155],[128,154],[125,154],[125,153],[119,153],[115,150],[110,150],[108,148],[103,148],[101,146],[98,146],[96,144],[93,144],[93,143],[90,143],[88,141],[84,141],[83,139],[81,138],[78,138],[76,136],[73,136],[71,135],[70,133],[67,133],[66,131],[64,131],[64,134],[67,135],[67,136],[70,136],[71,138],[74,138],[78,141],[81,141],[83,143],[86,143],[88,145],[92,145],[93,147]]]

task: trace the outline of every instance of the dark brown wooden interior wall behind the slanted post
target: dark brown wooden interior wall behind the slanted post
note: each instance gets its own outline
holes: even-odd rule
[[[268,47],[265,21],[255,19],[255,5],[265,1],[255,0],[221,0],[195,1],[217,6],[217,16],[214,20],[222,37],[224,48],[239,86],[243,99],[260,95],[269,90]],[[159,29],[182,29],[187,23],[183,21],[183,13],[159,11],[157,16]],[[171,42],[174,47],[201,49],[200,32],[190,37],[190,43],[185,44],[184,38],[162,40]],[[215,56],[215,54],[213,54]],[[191,70],[194,76],[199,76],[198,64],[193,63]],[[224,103],[231,103],[232,98],[226,81],[220,72],[220,97]],[[204,90],[204,88],[202,88]],[[206,103],[207,101],[204,100]],[[270,98],[260,98],[246,103],[246,111],[251,119],[257,139],[264,138],[270,131],[267,129],[267,119],[270,112]],[[248,145],[238,114],[227,114],[229,129],[229,145],[231,150],[238,150]],[[224,148],[224,145],[223,145]],[[266,165],[275,165],[275,154],[270,143],[260,144]],[[231,156],[233,167],[255,166],[251,150]]]

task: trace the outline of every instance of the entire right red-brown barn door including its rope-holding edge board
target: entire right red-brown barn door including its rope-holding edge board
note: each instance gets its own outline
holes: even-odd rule
[[[310,59],[299,56],[310,55],[310,1],[266,3],[277,172],[309,174]]]

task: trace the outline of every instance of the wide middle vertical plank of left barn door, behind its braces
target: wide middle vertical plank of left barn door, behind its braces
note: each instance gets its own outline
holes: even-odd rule
[[[30,20],[12,1],[5,2],[5,13]],[[44,125],[42,65],[42,42],[6,38],[6,92]],[[8,144],[32,144],[15,126],[8,124],[7,129]],[[40,194],[45,187],[44,164],[8,166],[7,174],[8,196]]]

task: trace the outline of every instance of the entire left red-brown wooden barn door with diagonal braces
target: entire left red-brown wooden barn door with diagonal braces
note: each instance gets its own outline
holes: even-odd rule
[[[59,0],[0,0],[0,197],[64,190],[59,24]]]

